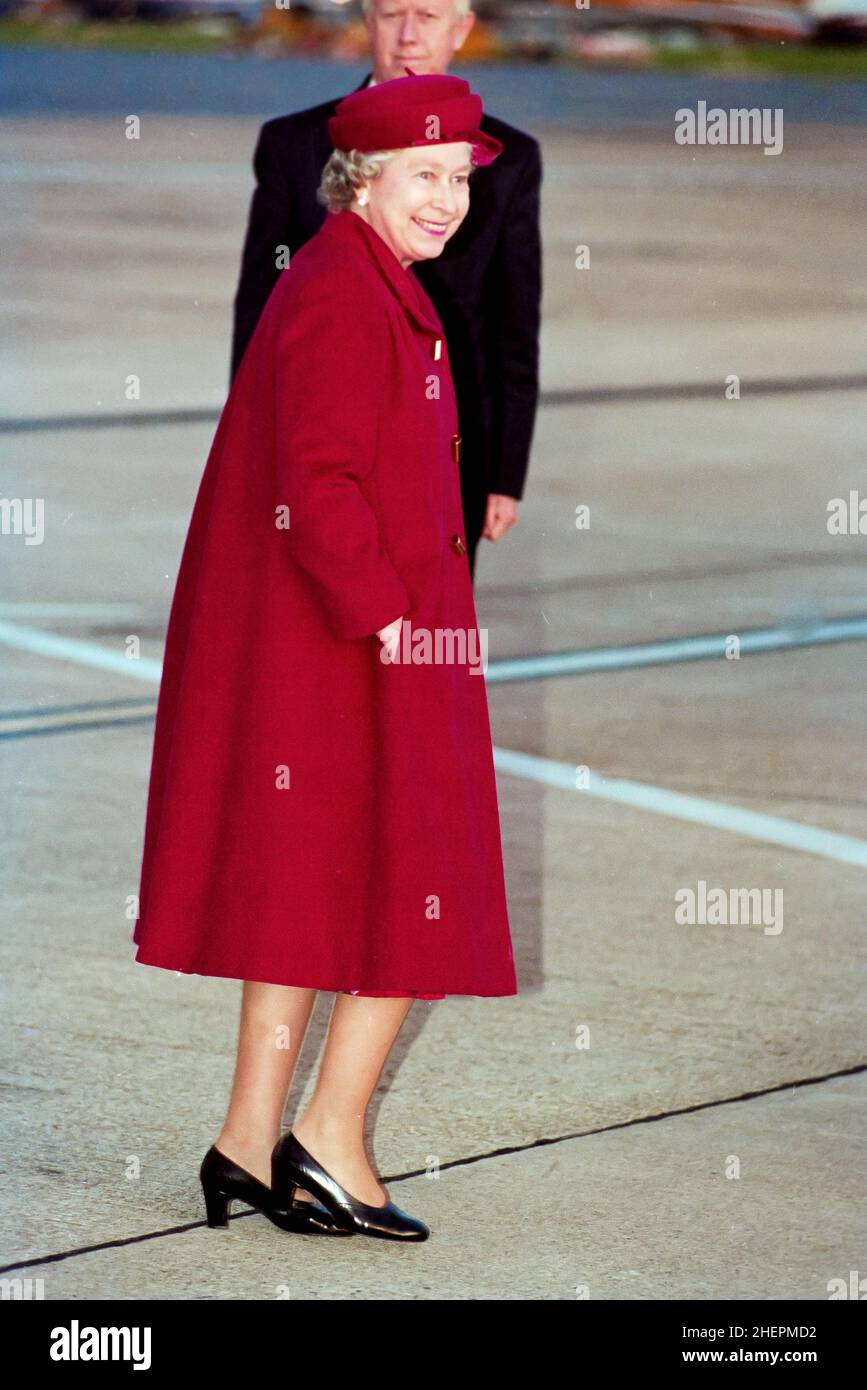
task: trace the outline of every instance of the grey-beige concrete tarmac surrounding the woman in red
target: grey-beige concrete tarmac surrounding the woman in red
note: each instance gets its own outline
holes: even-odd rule
[[[864,486],[867,136],[793,126],[770,158],[538,132],[545,399],[479,624],[492,667],[625,664],[489,682],[497,749],[529,755],[499,776],[520,994],[408,1015],[368,1126],[432,1230],[400,1250],[240,1208],[204,1227],[239,986],[136,965],[125,916],[256,129],[3,132],[3,495],[46,518],[39,545],[0,537],[3,1272],[47,1300],[827,1300],[867,1225],[867,663],[809,634],[867,616],[867,539],[827,525]],[[753,628],[777,648],[641,664]],[[734,828],[703,819],[721,806]],[[679,923],[702,883],[774,913]]]

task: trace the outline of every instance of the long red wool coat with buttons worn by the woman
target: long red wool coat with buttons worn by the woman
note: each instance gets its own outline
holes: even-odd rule
[[[329,214],[245,353],[181,559],[143,965],[517,994],[456,435],[431,300],[363,218]],[[397,617],[404,656],[427,630],[438,659],[381,660]],[[446,630],[467,649],[438,652]]]

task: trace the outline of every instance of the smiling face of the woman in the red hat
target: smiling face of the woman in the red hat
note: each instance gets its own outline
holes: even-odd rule
[[[471,147],[429,145],[399,150],[365,185],[352,210],[379,234],[403,267],[439,256],[470,208]]]

